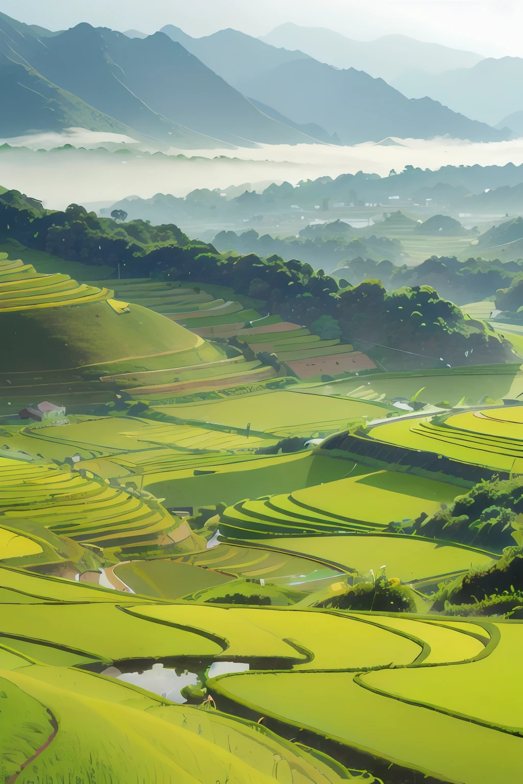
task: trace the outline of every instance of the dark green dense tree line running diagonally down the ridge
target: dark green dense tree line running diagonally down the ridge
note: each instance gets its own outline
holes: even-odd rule
[[[485,323],[464,318],[430,286],[387,292],[377,280],[339,285],[323,270],[296,259],[219,253],[212,245],[189,240],[173,224],[117,223],[79,205],[64,212],[46,210],[18,191],[0,195],[0,231],[63,259],[93,266],[120,263],[127,278],[227,286],[237,295],[262,300],[267,313],[307,327],[329,316],[336,322],[329,322],[329,329],[337,327],[342,341],[379,361],[387,358],[387,369],[514,360],[510,343]]]

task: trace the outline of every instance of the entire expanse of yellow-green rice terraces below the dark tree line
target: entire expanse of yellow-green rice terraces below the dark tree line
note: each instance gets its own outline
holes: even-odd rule
[[[111,286],[0,260],[0,778],[518,781],[518,574],[451,607],[510,553],[423,525],[517,488],[520,368],[297,372],[352,347]]]

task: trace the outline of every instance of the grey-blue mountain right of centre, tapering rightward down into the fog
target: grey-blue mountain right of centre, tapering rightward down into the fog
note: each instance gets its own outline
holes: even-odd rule
[[[431,139],[448,134],[485,142],[511,136],[508,129],[469,120],[430,98],[409,100],[364,71],[338,70],[317,60],[285,63],[240,89],[293,122],[325,127],[343,144],[379,142],[386,136]]]

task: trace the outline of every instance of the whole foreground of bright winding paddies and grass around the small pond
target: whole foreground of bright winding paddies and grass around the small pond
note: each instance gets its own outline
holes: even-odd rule
[[[518,622],[153,601],[5,567],[0,584],[10,778],[518,780]],[[169,694],[129,682],[147,662]],[[201,704],[179,704],[182,670]]]

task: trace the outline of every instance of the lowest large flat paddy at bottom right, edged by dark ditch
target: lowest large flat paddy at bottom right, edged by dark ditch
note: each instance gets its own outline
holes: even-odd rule
[[[467,666],[445,667],[445,675],[456,670],[457,676]],[[411,672],[418,670],[390,674]],[[219,705],[223,697],[232,699],[253,715],[275,717],[367,753],[382,761],[389,776],[410,768],[445,782],[492,784],[518,781],[520,775],[520,738],[376,694],[361,688],[354,673],[249,673],[209,685]],[[485,696],[478,682],[475,689],[479,698]]]

